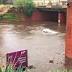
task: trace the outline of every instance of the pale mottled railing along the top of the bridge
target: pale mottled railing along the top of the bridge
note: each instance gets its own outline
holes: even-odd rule
[[[67,7],[67,1],[59,1],[59,2],[52,2],[52,1],[33,1],[36,7],[48,7],[48,8],[52,8],[52,7],[61,7],[61,8],[66,8]]]

